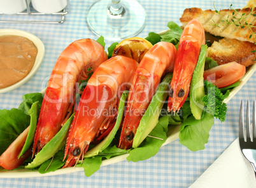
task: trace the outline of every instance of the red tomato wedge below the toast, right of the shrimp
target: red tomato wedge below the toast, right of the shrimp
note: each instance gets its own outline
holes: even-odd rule
[[[204,71],[204,80],[210,81],[218,88],[236,83],[245,75],[245,66],[237,62],[219,65]]]

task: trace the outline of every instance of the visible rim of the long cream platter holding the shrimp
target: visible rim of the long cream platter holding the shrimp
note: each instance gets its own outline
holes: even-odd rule
[[[159,32],[159,34],[164,34],[166,31]],[[256,70],[256,64],[248,67],[246,69],[245,76],[242,77],[240,80],[240,84],[238,87],[234,88],[231,93],[229,94],[229,97],[225,98],[224,102],[227,103],[229,100],[231,100],[236,93],[243,87],[243,85],[248,81],[248,79],[252,76],[253,72]],[[180,125],[176,126],[169,126],[169,129],[167,131],[167,139],[162,146],[169,144],[170,142],[173,142],[174,140],[178,139],[179,137],[179,131],[180,131]],[[103,161],[101,166],[106,166],[108,164],[117,163],[119,161],[124,161],[129,154],[124,154],[122,156],[117,156],[114,158],[106,159]],[[1,167],[0,167],[1,168]],[[51,175],[61,175],[66,173],[73,173],[75,171],[83,171],[82,167],[71,167],[71,168],[63,168],[56,171],[52,171],[49,173],[39,173],[36,170],[27,170],[27,169],[19,169],[19,170],[10,170],[10,171],[0,171],[0,178],[29,178],[29,177],[45,177],[45,176],[51,176]]]

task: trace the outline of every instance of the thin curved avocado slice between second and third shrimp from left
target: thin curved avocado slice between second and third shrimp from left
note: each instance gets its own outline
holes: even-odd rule
[[[122,97],[121,97],[119,105],[118,105],[117,121],[116,121],[113,129],[110,131],[108,136],[106,136],[106,138],[104,138],[104,140],[101,141],[101,143],[97,144],[96,147],[90,149],[90,151],[87,151],[85,153],[85,155],[83,156],[83,158],[91,158],[93,156],[97,156],[97,154],[99,154],[99,152],[103,151],[104,149],[106,149],[106,147],[108,147],[108,145],[110,145],[110,143],[112,142],[113,138],[115,137],[115,134],[117,133],[118,128],[122,122],[122,117],[124,114],[125,100],[128,97],[128,93],[129,93],[129,91],[124,91],[124,93],[122,94]]]

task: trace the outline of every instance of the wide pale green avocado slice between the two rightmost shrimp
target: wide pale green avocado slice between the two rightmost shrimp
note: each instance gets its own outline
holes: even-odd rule
[[[172,78],[172,73],[166,74],[162,83],[160,83],[159,88],[155,92],[155,95],[153,95],[145,114],[139,122],[139,126],[132,142],[133,148],[138,147],[157,125],[162,106],[164,105],[168,95],[169,85],[171,84]]]

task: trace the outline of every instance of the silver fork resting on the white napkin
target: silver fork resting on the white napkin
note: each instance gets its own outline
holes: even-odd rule
[[[250,122],[250,101],[246,108],[246,126],[244,123],[243,100],[239,115],[239,145],[245,158],[250,161],[256,176],[256,114],[255,100],[253,100],[252,124]]]

